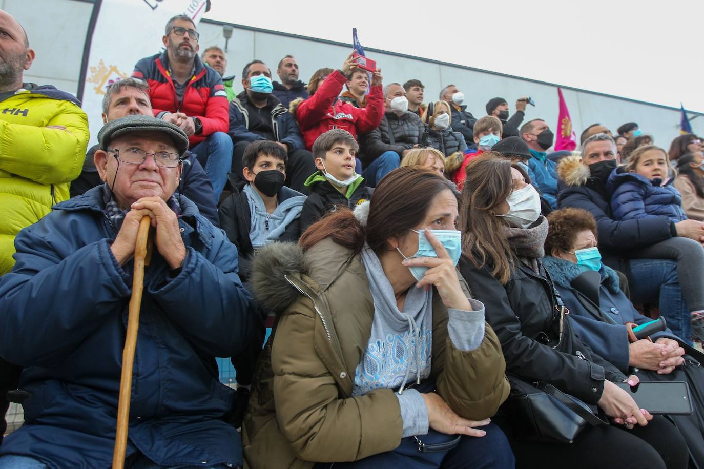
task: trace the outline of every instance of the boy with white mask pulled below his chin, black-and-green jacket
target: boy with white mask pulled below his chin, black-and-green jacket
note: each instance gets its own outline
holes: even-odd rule
[[[315,139],[313,158],[318,171],[306,181],[310,195],[301,211],[301,233],[339,206],[353,209],[370,199],[373,189],[354,170],[358,150],[357,141],[346,130],[328,130]]]

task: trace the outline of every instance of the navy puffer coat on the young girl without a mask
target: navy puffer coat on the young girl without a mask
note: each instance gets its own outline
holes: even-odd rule
[[[670,180],[660,186],[660,180],[650,181],[636,173],[616,168],[609,176],[606,192],[611,199],[614,220],[637,220],[648,217],[667,217],[677,223],[686,220],[682,210],[682,196]]]

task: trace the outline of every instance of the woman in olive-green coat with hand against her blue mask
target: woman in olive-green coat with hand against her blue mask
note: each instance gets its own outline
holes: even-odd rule
[[[277,320],[242,426],[250,468],[513,467],[489,423],[508,396],[501,346],[455,269],[457,217],[452,183],[409,166],[354,215],[259,252],[253,292]]]

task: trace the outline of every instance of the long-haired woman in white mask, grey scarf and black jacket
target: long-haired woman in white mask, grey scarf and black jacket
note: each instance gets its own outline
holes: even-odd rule
[[[598,406],[615,425],[588,428],[573,444],[527,442],[517,434],[520,418],[504,406],[494,421],[509,438],[517,467],[593,468],[608,463],[684,469],[686,445],[677,429],[639,409],[614,384],[626,377],[574,333],[569,311],[541,263],[548,223],[540,215],[538,193],[526,179],[520,165],[503,159],[477,158],[467,165],[460,273],[486,305],[486,320],[501,341],[507,373],[553,384]],[[638,378],[631,375],[628,382],[637,384]]]

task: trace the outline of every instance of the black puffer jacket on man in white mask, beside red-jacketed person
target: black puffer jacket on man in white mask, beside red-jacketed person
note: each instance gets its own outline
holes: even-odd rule
[[[386,111],[379,127],[360,137],[365,156],[362,163],[368,165],[384,151],[396,151],[402,156],[403,150],[420,142],[424,128],[420,118],[410,111],[400,116],[395,111]]]

